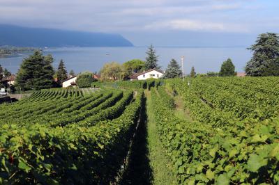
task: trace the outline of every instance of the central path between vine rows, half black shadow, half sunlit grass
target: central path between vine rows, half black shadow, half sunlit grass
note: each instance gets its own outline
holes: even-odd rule
[[[172,164],[160,142],[160,135],[151,108],[151,92],[145,90],[146,106],[142,111],[132,145],[128,168],[119,184],[176,184]]]

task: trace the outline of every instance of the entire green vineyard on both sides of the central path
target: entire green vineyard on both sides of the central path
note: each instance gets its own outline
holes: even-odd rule
[[[277,77],[119,81],[94,91],[40,90],[0,104],[0,184],[128,182],[121,183],[123,174],[141,175],[129,164],[132,148],[140,145],[135,135],[150,134],[152,118],[170,163],[159,169],[170,170],[173,184],[278,184],[278,95]],[[145,107],[151,110],[147,118]],[[140,133],[143,123],[147,131]],[[150,143],[144,147],[161,152]],[[145,155],[134,153],[135,160]],[[139,161],[151,168],[158,162]],[[151,172],[156,179],[158,170]]]

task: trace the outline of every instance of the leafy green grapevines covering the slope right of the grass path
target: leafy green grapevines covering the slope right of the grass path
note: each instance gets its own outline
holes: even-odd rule
[[[189,81],[166,88],[183,97],[193,122],[173,116],[166,93],[152,92],[178,184],[278,184],[278,78]]]

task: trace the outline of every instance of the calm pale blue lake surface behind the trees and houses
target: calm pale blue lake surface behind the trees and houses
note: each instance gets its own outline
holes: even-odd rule
[[[68,72],[83,71],[98,72],[104,63],[116,61],[124,63],[133,58],[144,60],[147,47],[61,47],[49,48],[43,54],[52,54],[54,67],[63,59]],[[195,67],[197,73],[209,71],[218,72],[220,65],[227,58],[232,58],[237,72],[243,72],[247,61],[252,54],[246,48],[190,48],[190,47],[156,47],[159,56],[159,65],[165,70],[169,61],[174,58],[181,64],[181,56],[185,56],[184,70],[190,73],[190,68]],[[12,73],[16,73],[26,58],[32,53],[20,53],[9,58],[0,58],[2,67],[6,67]]]

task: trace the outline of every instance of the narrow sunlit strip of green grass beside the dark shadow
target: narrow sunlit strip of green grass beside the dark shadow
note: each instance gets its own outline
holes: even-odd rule
[[[145,91],[147,119],[147,143],[149,148],[149,163],[153,172],[152,184],[175,184],[172,175],[172,165],[166,156],[165,148],[160,142],[156,120],[151,108],[151,93]]]

